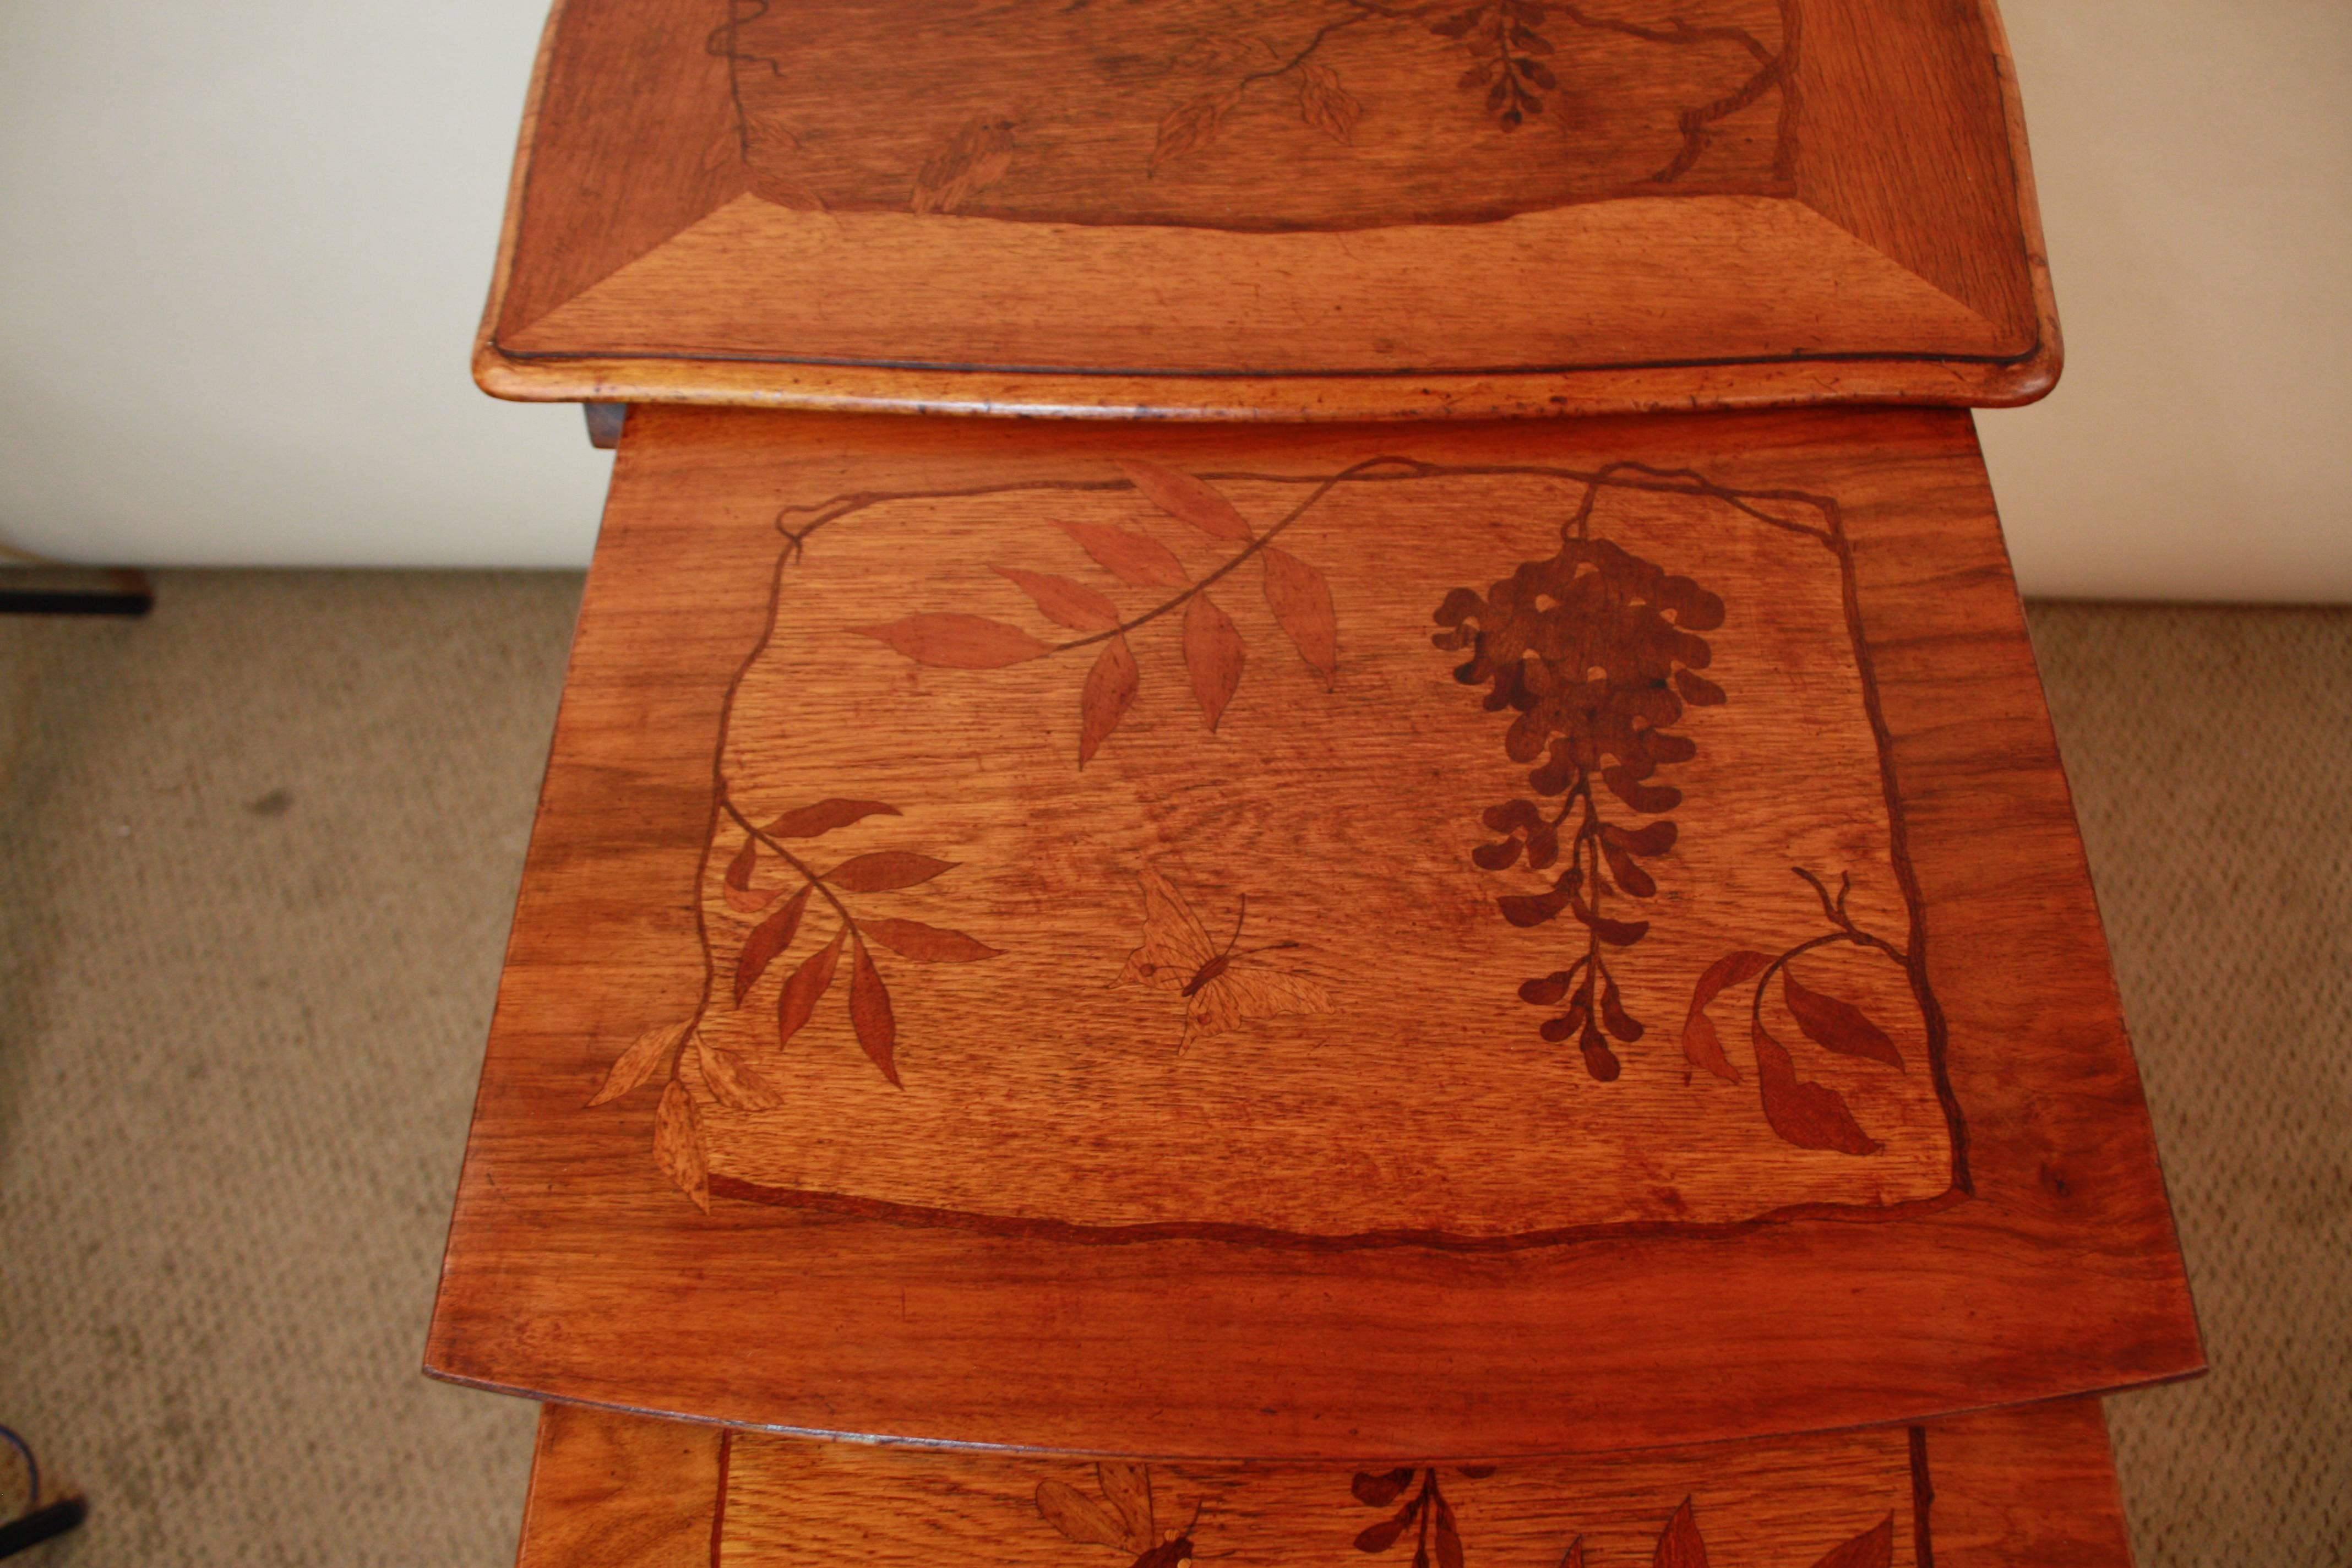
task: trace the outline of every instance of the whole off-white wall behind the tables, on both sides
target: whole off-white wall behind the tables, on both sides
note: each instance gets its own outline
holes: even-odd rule
[[[607,461],[466,355],[543,0],[0,5],[0,541],[581,564]],[[2027,592],[2352,599],[2352,5],[2011,0],[2067,374]]]

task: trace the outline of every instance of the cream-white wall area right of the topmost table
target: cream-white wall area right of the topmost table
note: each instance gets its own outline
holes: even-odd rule
[[[1978,416],[2018,581],[2352,599],[2352,5],[2004,16],[2067,339]]]

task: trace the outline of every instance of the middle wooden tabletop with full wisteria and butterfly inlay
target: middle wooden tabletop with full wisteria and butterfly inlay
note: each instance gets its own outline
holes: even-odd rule
[[[1651,738],[1536,778],[1482,630]],[[1969,418],[640,409],[428,1366],[1350,1460],[2197,1371]]]

